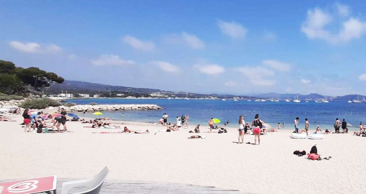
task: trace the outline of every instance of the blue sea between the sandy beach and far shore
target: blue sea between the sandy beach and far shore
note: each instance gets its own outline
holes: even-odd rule
[[[76,104],[157,104],[163,107],[161,110],[127,110],[108,112],[104,111],[103,117],[113,120],[136,121],[146,123],[157,123],[163,113],[169,115],[168,122],[175,123],[176,117],[188,114],[190,125],[207,125],[208,120],[213,117],[221,120],[217,125],[227,127],[238,127],[239,115],[244,115],[244,120],[251,123],[255,114],[269,123],[272,128],[277,129],[280,123],[281,129],[294,130],[294,119],[300,118],[300,129],[305,126],[305,118],[310,122],[310,130],[319,125],[322,129],[334,129],[333,124],[336,118],[346,119],[349,130],[358,130],[359,123],[366,123],[366,103],[348,103],[346,101],[329,101],[328,103],[317,103],[314,101],[296,102],[274,102],[274,101],[246,101],[246,100],[194,100],[194,99],[126,99],[126,98],[87,98],[69,99],[67,102]],[[80,117],[97,118],[100,116],[91,115],[90,112],[76,112]],[[285,123],[284,127],[283,124]]]

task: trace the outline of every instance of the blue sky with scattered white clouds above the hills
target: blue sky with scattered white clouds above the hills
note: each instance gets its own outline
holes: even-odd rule
[[[197,93],[366,95],[366,1],[4,1],[0,58]]]

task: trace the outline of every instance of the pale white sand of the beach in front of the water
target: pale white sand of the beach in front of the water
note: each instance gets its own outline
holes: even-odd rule
[[[150,134],[94,134],[67,122],[73,133],[25,133],[18,122],[0,121],[0,179],[57,175],[88,178],[108,166],[108,179],[143,180],[239,189],[254,193],[365,193],[366,137],[325,135],[323,140],[290,139],[291,131],[261,136],[261,145],[237,144],[238,132],[157,132],[165,127],[129,123]],[[61,125],[62,126],[62,125]],[[201,131],[208,131],[201,127]],[[120,129],[122,130],[122,129]],[[244,142],[254,141],[246,135]],[[322,158],[292,154],[317,144]]]

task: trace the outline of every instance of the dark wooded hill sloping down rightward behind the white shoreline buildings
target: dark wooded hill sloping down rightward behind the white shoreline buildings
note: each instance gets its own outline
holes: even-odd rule
[[[163,92],[158,89],[149,88],[131,88],[126,86],[113,86],[105,84],[96,84],[82,81],[70,81],[65,80],[62,84],[51,83],[51,86],[45,92],[47,93],[59,93],[61,90],[68,93],[97,93],[97,92],[120,92],[120,93],[153,93]]]

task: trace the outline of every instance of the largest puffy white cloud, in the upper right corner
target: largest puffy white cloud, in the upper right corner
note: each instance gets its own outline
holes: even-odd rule
[[[340,31],[336,34],[325,29],[332,21],[330,13],[326,13],[320,8],[309,9],[306,21],[303,22],[300,30],[309,39],[323,39],[333,44],[348,42],[366,34],[366,22],[362,22],[358,18],[349,18],[343,22]]]

